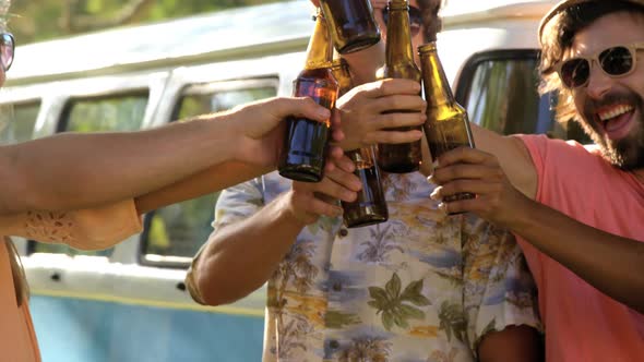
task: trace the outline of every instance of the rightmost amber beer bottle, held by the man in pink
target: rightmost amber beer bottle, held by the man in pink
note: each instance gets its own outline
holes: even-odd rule
[[[443,153],[457,147],[475,147],[467,111],[456,102],[452,88],[439,59],[436,43],[418,48],[422,68],[427,121],[425,134],[431,157],[436,160]],[[460,193],[445,197],[444,202],[474,198],[472,193]]]

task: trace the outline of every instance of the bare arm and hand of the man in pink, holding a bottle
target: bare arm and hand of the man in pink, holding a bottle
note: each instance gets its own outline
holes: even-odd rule
[[[644,243],[579,222],[527,197],[505,177],[493,155],[460,148],[441,156],[432,197],[473,192],[477,198],[446,205],[510,229],[610,298],[644,313]],[[460,165],[461,164],[461,165]]]

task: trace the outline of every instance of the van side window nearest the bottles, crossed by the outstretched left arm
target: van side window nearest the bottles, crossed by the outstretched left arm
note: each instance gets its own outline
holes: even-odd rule
[[[186,87],[175,119],[224,111],[249,101],[274,97],[276,80],[198,84]],[[141,263],[186,267],[213,231],[218,193],[170,205],[145,216]]]

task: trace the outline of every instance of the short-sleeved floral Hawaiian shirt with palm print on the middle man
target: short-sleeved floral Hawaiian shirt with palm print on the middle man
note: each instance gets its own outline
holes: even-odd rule
[[[214,227],[247,218],[290,181],[276,172],[222,193]],[[264,361],[474,361],[480,338],[540,328],[512,236],[469,215],[434,221],[433,186],[389,174],[387,222],[322,217],[269,280]]]

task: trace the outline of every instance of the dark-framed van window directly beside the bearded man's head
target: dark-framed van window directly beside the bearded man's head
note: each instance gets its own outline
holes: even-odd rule
[[[472,122],[501,134],[545,133],[588,143],[574,122],[554,121],[556,95],[539,96],[538,56],[527,49],[474,55],[458,80],[456,99]]]

